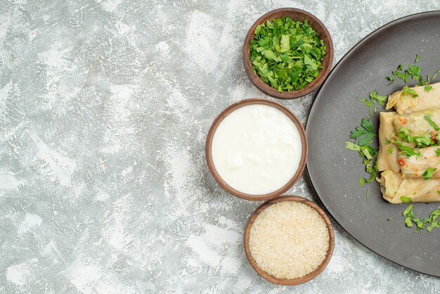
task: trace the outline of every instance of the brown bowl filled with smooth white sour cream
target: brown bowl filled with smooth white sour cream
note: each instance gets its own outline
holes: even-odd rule
[[[209,170],[229,193],[267,200],[285,193],[304,170],[307,142],[298,118],[279,103],[247,99],[221,113],[206,144]]]

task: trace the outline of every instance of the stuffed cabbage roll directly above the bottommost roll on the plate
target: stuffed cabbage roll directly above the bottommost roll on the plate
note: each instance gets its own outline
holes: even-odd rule
[[[426,148],[420,148],[418,151],[420,155],[412,155],[407,158],[402,153],[397,155],[397,161],[399,162],[402,176],[404,179],[440,179],[440,157],[436,154],[439,146],[430,146]],[[439,151],[440,153],[440,151]],[[440,196],[440,195],[439,195]]]

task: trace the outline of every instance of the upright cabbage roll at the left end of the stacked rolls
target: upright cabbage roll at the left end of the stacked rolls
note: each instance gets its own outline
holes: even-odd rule
[[[400,167],[397,163],[397,146],[392,143],[395,136],[393,120],[397,114],[380,113],[379,125],[379,153],[377,155],[377,170],[392,170],[399,172]]]

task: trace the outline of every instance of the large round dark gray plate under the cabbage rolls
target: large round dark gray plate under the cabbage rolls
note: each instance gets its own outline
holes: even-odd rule
[[[321,87],[306,126],[309,139],[307,171],[318,197],[336,222],[365,247],[403,267],[440,276],[440,229],[432,233],[406,228],[402,211],[382,199],[379,184],[361,187],[367,177],[358,153],[344,148],[351,129],[368,114],[360,101],[370,91],[391,94],[404,86],[396,79],[387,86],[387,75],[397,65],[422,58],[422,73],[440,68],[440,11],[409,15],[380,27],[365,37],[335,66]],[[436,77],[438,82],[439,76]],[[415,82],[413,83],[415,84]],[[373,115],[377,129],[379,115]],[[366,193],[369,192],[367,203]],[[415,215],[427,217],[438,203],[415,204]],[[390,222],[387,218],[391,217]]]

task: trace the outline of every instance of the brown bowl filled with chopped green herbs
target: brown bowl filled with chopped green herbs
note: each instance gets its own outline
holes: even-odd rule
[[[321,86],[330,73],[333,42],[316,16],[279,8],[252,25],[242,58],[247,76],[264,94],[298,98]]]

